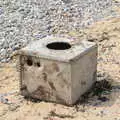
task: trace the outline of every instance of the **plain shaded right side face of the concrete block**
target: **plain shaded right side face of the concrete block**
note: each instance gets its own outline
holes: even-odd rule
[[[96,81],[97,48],[89,50],[71,65],[72,103],[74,104]]]

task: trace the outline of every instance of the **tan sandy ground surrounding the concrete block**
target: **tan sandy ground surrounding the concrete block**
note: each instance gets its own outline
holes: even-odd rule
[[[0,64],[0,95],[8,99],[0,103],[0,120],[120,120],[120,19],[98,22],[69,35],[98,44],[98,80],[108,81],[112,89],[104,86],[100,95],[92,91],[73,107],[24,99],[13,60]]]

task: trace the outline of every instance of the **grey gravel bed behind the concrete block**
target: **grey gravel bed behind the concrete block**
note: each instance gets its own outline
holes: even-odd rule
[[[111,3],[111,0],[0,0],[0,62],[8,62],[14,51],[33,40],[67,34],[109,16]]]

